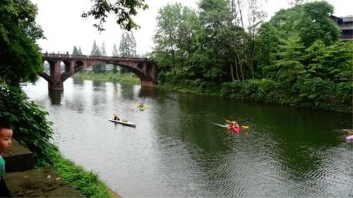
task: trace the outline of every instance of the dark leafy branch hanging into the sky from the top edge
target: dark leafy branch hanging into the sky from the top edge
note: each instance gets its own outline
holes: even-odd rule
[[[81,16],[88,18],[92,16],[98,23],[93,24],[97,27],[97,30],[104,31],[104,23],[109,13],[114,13],[116,16],[116,23],[124,30],[130,31],[133,28],[139,26],[133,21],[131,16],[136,16],[137,9],[142,8],[145,10],[148,5],[145,4],[145,0],[116,0],[110,2],[107,0],[95,0],[94,4],[90,8],[90,11],[84,12]]]

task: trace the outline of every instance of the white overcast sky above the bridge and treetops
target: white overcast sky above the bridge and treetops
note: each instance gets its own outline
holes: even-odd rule
[[[83,54],[90,54],[93,40],[101,45],[105,42],[107,54],[112,54],[113,44],[119,49],[121,33],[124,32],[116,25],[114,16],[110,17],[104,25],[105,31],[98,32],[92,27],[93,20],[85,20],[80,17],[83,11],[88,11],[90,0],[31,0],[37,4],[37,23],[44,30],[47,39],[40,39],[37,43],[42,51],[49,53],[60,51],[69,54],[73,46],[80,46]],[[184,6],[196,8],[197,0],[145,0],[149,5],[148,10],[139,11],[135,18],[140,25],[139,30],[133,30],[136,39],[137,53],[145,54],[152,51],[152,36],[156,27],[157,11],[162,6],[180,2]],[[328,0],[335,7],[335,16],[347,16],[353,14],[352,0]],[[287,8],[287,0],[268,0],[263,5],[263,10],[268,13],[268,18],[274,15],[280,8]]]

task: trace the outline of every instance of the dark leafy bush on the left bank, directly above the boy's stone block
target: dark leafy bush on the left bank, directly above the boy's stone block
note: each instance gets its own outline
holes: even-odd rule
[[[38,165],[53,165],[57,148],[50,142],[53,130],[47,112],[28,101],[20,88],[4,82],[0,83],[0,98],[0,119],[13,125],[13,137],[34,153]]]

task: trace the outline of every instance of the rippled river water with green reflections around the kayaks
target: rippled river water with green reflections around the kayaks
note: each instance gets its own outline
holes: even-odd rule
[[[64,92],[42,79],[23,89],[49,111],[61,153],[122,197],[353,197],[351,113],[71,78]],[[226,118],[249,129],[215,125]]]

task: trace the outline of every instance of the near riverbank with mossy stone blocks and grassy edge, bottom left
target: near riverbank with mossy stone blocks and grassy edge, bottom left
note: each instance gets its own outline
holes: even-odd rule
[[[13,197],[120,197],[93,173],[66,159],[57,159],[53,167],[35,167],[33,153],[13,139],[8,151],[0,152],[6,161],[0,191]]]

